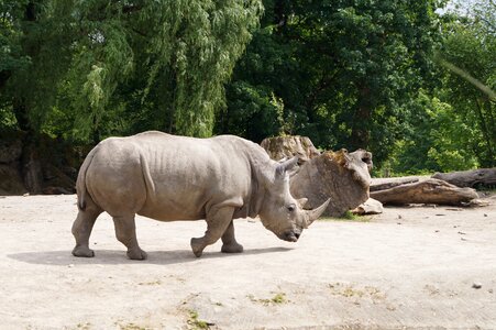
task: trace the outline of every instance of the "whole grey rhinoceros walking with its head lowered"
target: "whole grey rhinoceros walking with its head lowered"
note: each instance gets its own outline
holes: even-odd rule
[[[195,139],[157,131],[109,138],[92,148],[76,182],[78,215],[73,224],[75,256],[93,256],[88,242],[97,217],[107,211],[128,257],[144,260],[135,215],[159,221],[202,220],[207,231],[192,238],[196,256],[222,239],[222,252],[243,251],[233,219],[258,216],[279,239],[296,242],[329,200],[304,210],[289,193],[298,158],[277,163],[257,144],[233,135]]]

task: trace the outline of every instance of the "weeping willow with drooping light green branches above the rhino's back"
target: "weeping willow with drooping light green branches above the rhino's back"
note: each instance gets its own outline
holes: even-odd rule
[[[18,0],[0,10],[7,53],[22,63],[0,67],[2,109],[22,130],[96,142],[111,125],[211,135],[262,1]]]

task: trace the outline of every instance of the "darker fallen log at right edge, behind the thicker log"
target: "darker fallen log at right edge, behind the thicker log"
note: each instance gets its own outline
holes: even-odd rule
[[[452,173],[436,173],[433,178],[444,180],[458,187],[477,187],[496,185],[496,167],[461,170]]]

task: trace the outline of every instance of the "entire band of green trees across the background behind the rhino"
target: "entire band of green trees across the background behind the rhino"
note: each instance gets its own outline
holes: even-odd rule
[[[1,0],[0,132],[301,134],[383,174],[496,166],[496,4],[445,2]]]

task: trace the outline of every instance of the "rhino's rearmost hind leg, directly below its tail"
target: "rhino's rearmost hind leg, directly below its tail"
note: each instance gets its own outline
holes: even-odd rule
[[[76,246],[73,250],[74,256],[91,257],[95,252],[89,249],[89,237],[95,221],[102,212],[96,205],[89,205],[85,210],[79,210],[73,223],[73,235],[76,239]]]

